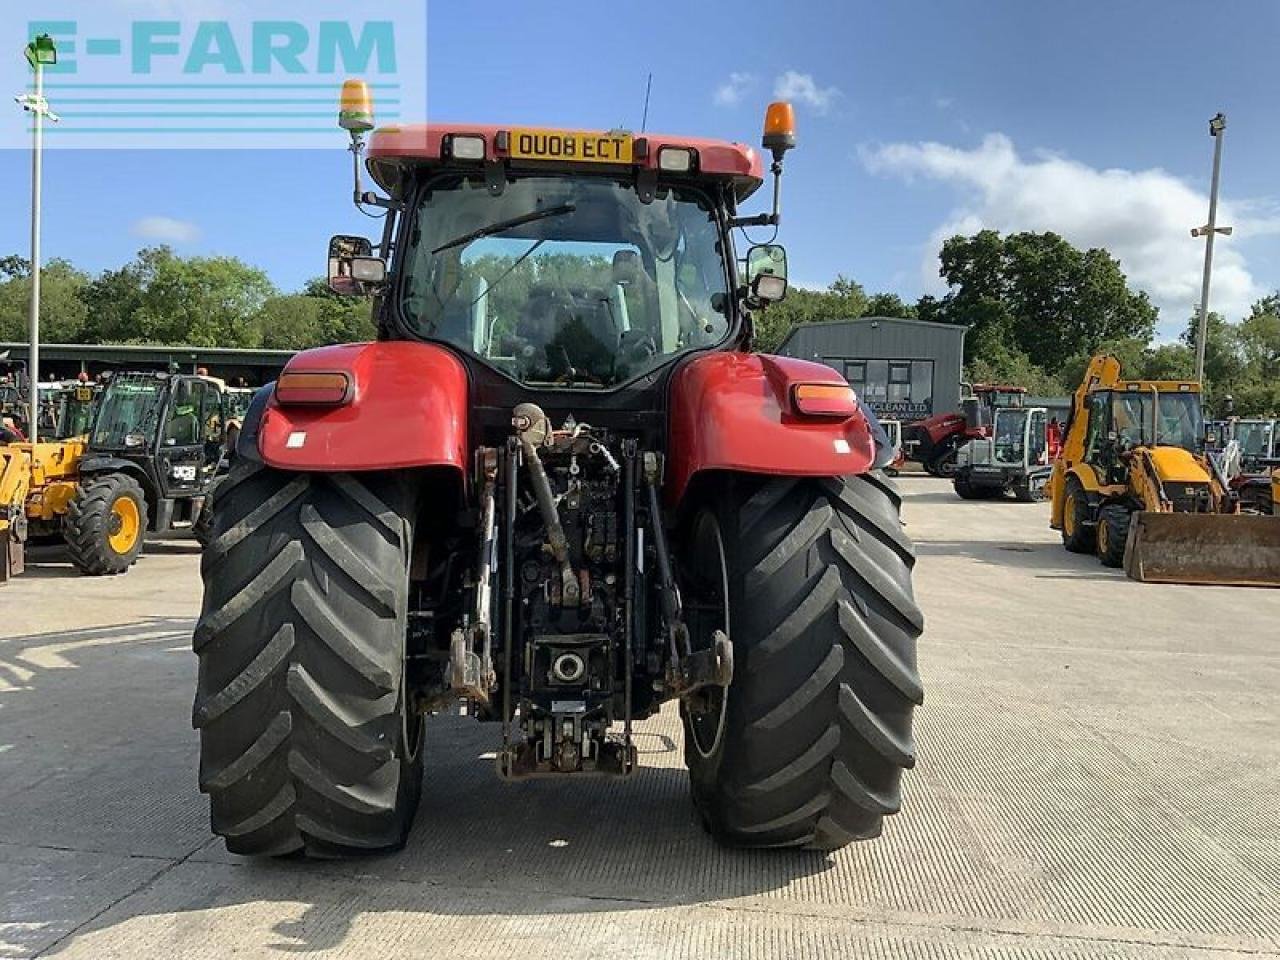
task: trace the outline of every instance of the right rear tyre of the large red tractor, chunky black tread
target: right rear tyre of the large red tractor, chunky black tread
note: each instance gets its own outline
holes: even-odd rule
[[[836,850],[876,837],[915,764],[923,616],[899,495],[879,474],[737,477],[723,538],[733,681],[723,726],[686,716],[708,829],[733,846]]]

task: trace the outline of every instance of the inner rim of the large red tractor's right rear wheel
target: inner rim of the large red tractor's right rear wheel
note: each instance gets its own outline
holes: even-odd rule
[[[724,559],[724,540],[714,515],[703,512],[694,524],[690,541],[690,575],[686,580],[685,623],[689,643],[694,650],[714,646],[716,631],[730,634],[728,563]],[[724,718],[728,713],[728,689],[709,686],[685,704],[689,736],[694,749],[704,759],[716,753],[724,736]]]

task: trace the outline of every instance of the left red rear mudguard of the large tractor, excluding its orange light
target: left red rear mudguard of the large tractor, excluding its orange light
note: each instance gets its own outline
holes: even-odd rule
[[[320,347],[284,369],[302,371],[347,374],[351,398],[342,406],[282,406],[273,396],[259,430],[269,466],[467,472],[467,372],[447,349],[412,342]]]

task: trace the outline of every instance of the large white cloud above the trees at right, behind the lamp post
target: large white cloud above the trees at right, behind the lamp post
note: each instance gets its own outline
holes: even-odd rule
[[[888,143],[860,152],[874,174],[908,183],[940,180],[960,189],[960,206],[929,238],[922,273],[931,291],[941,285],[942,241],[991,228],[1052,230],[1078,247],[1106,247],[1160,307],[1164,335],[1180,332],[1199,301],[1204,242],[1192,239],[1189,230],[1207,216],[1208,197],[1166,170],[1096,169],[1044,151],[1024,157],[1000,133],[973,150]],[[1236,239],[1280,230],[1280,218],[1249,214],[1247,206],[1221,202],[1219,223],[1234,225]],[[1220,238],[1213,248],[1211,308],[1238,317],[1263,293],[1244,256],[1230,239]]]

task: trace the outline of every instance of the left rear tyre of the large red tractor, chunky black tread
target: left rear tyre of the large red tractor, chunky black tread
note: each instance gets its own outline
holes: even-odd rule
[[[242,460],[215,497],[192,710],[214,832],[236,854],[402,846],[422,783],[408,488]]]

